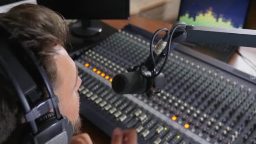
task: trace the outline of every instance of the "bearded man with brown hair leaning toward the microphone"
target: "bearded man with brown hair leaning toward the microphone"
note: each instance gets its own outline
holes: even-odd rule
[[[72,122],[74,137],[72,144],[92,144],[87,133],[79,133],[79,96],[77,93],[81,79],[77,75],[74,61],[64,49],[68,38],[65,21],[55,12],[40,5],[22,4],[0,15],[13,32],[10,38],[22,41],[41,60],[54,93],[59,98],[59,109]],[[20,102],[0,76],[0,144],[18,143],[21,135],[18,130],[25,121]],[[112,144],[136,144],[134,130],[113,132]]]

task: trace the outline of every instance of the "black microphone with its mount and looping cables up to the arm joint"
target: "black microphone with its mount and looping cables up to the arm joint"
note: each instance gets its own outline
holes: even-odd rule
[[[132,67],[129,72],[123,74],[117,74],[112,79],[112,89],[117,94],[142,94],[152,96],[153,93],[159,93],[166,84],[166,79],[162,73],[168,60],[169,52],[176,46],[173,41],[183,42],[187,40],[187,27],[193,29],[194,26],[187,25],[185,23],[176,23],[173,25],[170,33],[167,29],[158,29],[150,41],[150,54],[141,65]],[[165,31],[164,37],[157,42],[153,48],[155,36]],[[177,31],[176,33],[174,33]],[[175,35],[174,35],[175,34]],[[174,36],[173,36],[174,35]],[[168,46],[167,46],[168,45]],[[157,72],[155,67],[163,59],[163,64]]]

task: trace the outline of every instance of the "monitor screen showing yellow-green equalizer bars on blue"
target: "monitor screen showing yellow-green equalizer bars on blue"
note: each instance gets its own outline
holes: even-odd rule
[[[250,0],[181,0],[179,21],[196,26],[244,28]]]

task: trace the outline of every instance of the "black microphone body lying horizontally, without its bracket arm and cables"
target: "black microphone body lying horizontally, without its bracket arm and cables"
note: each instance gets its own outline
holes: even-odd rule
[[[165,86],[163,73],[155,78],[146,77],[149,72],[142,73],[133,71],[115,75],[111,83],[112,89],[117,94],[142,94],[159,91]]]

